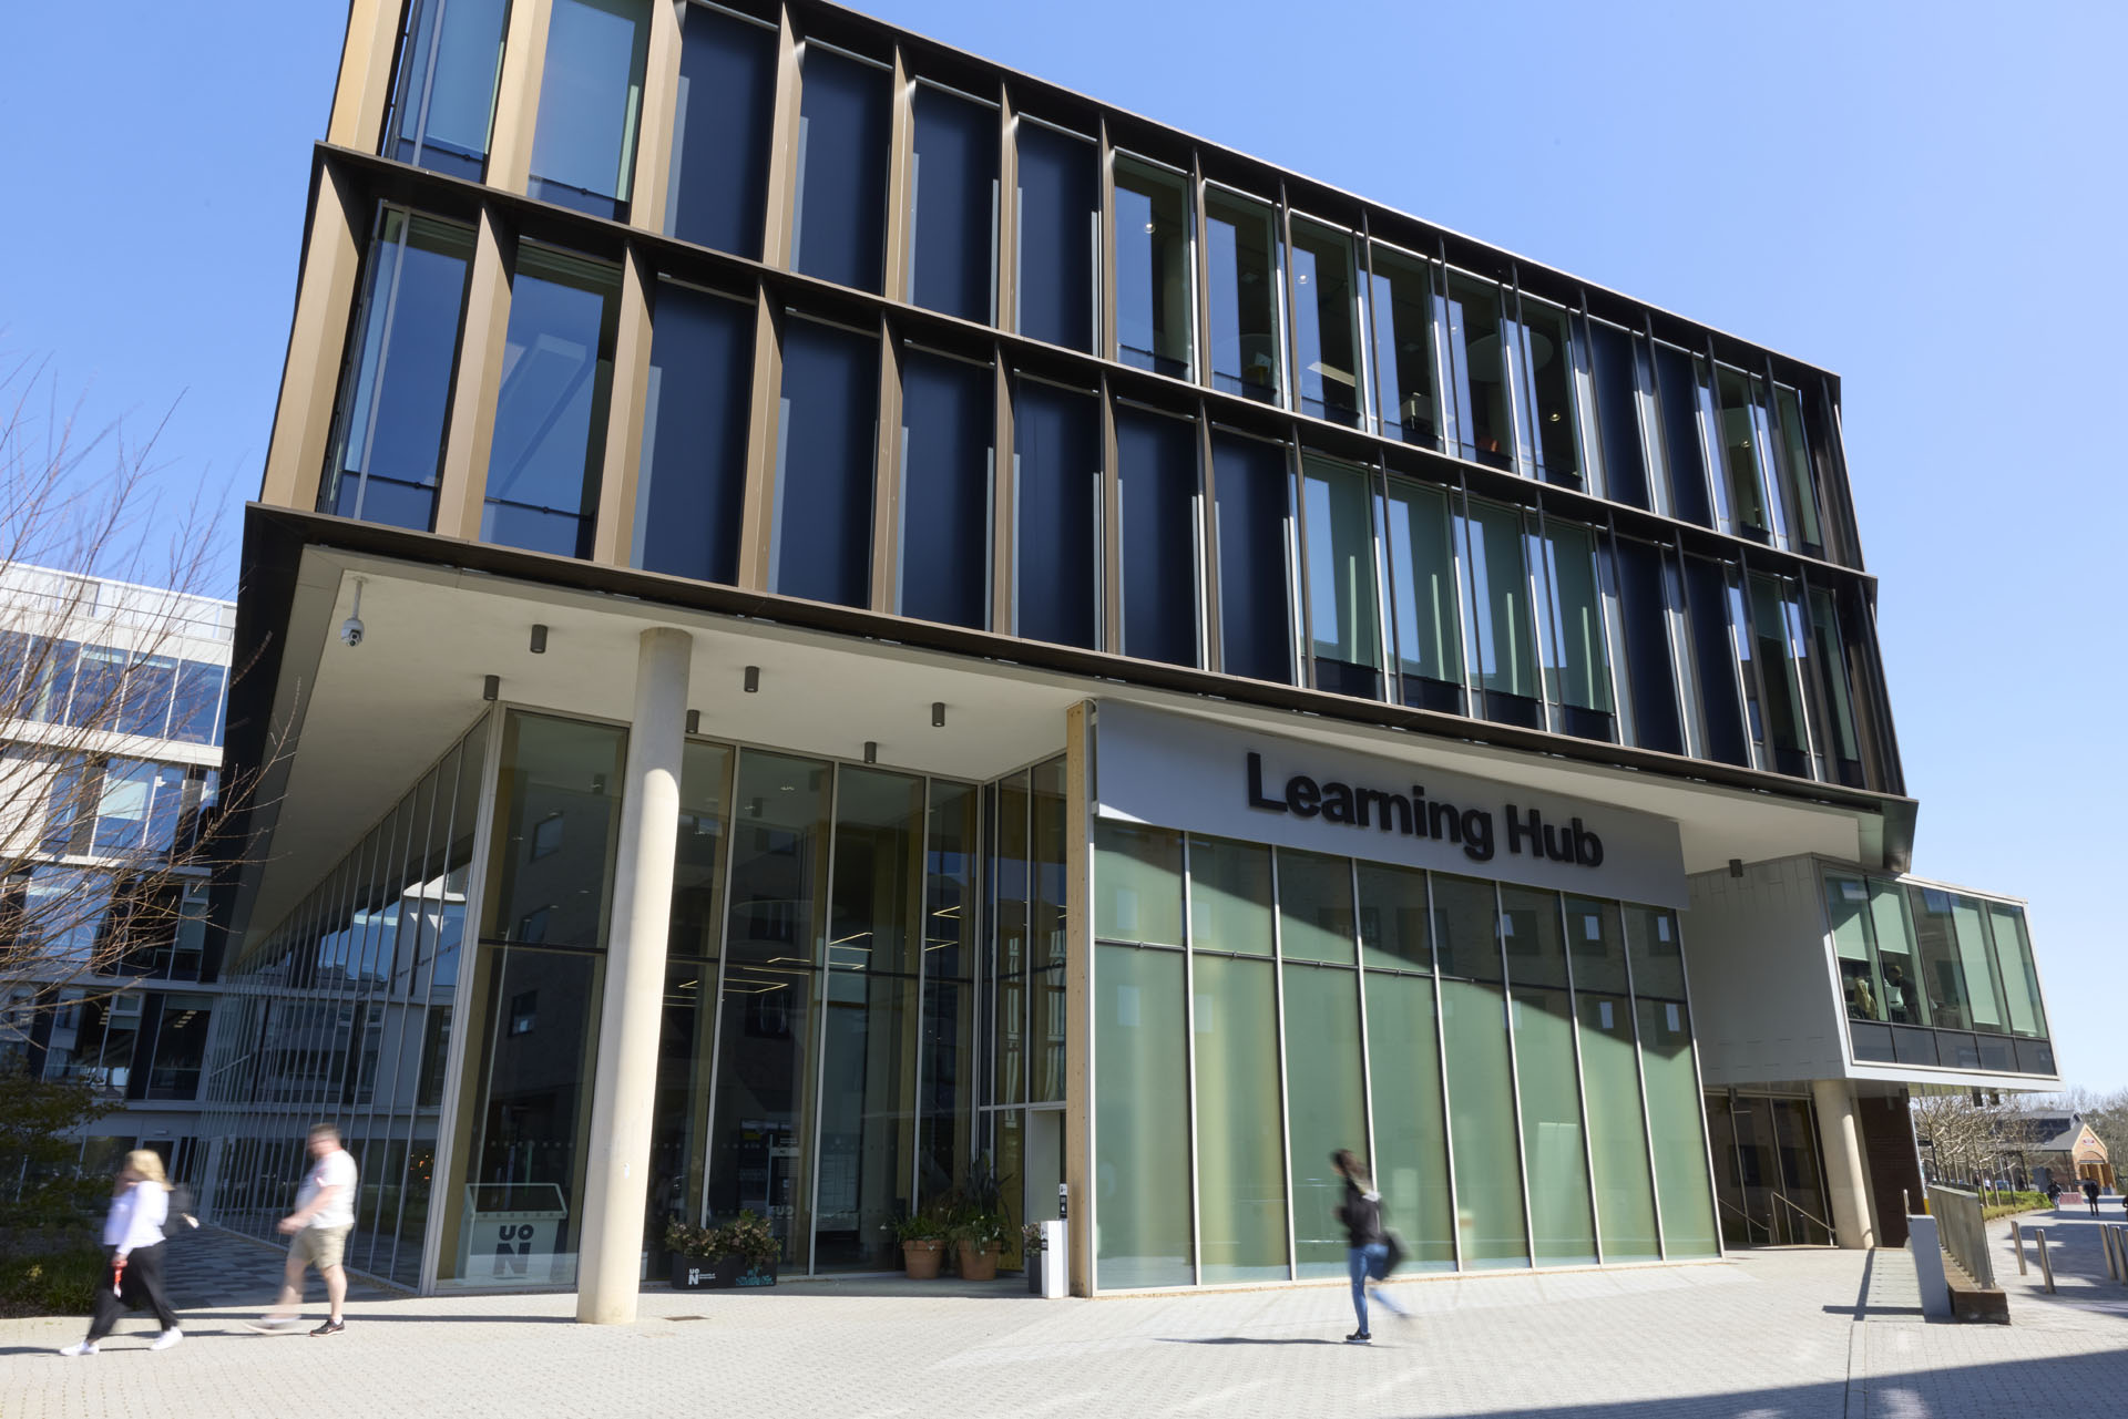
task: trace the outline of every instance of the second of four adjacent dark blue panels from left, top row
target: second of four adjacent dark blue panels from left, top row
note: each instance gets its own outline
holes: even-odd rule
[[[798,102],[794,266],[864,291],[887,262],[887,140],[894,81],[883,68],[819,47],[804,55]]]

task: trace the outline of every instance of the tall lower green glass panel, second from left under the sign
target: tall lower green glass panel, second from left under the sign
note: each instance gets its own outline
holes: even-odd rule
[[[1283,1281],[1285,1153],[1273,966],[1200,955],[1192,968],[1204,1281]]]

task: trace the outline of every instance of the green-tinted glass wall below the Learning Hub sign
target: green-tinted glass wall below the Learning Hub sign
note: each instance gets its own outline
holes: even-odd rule
[[[1094,917],[1102,1289],[1341,1276],[1336,1149],[1415,1268],[1717,1253],[1673,913],[1104,819]]]

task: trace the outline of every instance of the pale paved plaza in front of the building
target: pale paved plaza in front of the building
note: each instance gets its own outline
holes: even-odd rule
[[[149,1353],[134,1317],[64,1359],[79,1319],[0,1321],[0,1419],[100,1415],[1579,1415],[1934,1419],[2119,1413],[2128,1287],[2088,1217],[2049,1230],[2058,1293],[1996,1272],[2015,1323],[1919,1315],[1900,1251],[1756,1251],[1709,1266],[1413,1281],[1417,1313],[1345,1287],[1032,1300],[1013,1283],[849,1281],[753,1293],[645,1291],[636,1325],[570,1321],[570,1296],[411,1298],[366,1289],[347,1332],[255,1336],[266,1247],[179,1238],[187,1340]],[[2117,1208],[2107,1213],[2119,1221]],[[311,1283],[311,1311],[321,1313]]]

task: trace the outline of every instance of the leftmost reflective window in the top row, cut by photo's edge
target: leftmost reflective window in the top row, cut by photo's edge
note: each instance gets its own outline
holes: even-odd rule
[[[506,17],[509,0],[413,0],[385,115],[385,155],[481,181]]]

